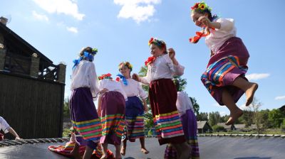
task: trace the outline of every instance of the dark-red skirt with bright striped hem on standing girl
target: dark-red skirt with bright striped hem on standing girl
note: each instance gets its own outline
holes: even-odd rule
[[[176,108],[177,90],[172,79],[157,79],[150,82],[149,97],[160,145],[184,143],[186,140]]]

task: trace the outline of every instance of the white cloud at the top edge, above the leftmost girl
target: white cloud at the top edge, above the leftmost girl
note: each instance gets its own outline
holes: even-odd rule
[[[78,12],[78,6],[75,1],[71,0],[33,0],[48,13],[64,13],[73,16],[78,20],[82,20],[85,16]]]

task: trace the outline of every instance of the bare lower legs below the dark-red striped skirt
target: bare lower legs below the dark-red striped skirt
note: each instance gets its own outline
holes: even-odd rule
[[[188,159],[191,157],[192,148],[187,142],[180,144],[172,143],[172,146],[174,146],[177,151],[177,159]]]

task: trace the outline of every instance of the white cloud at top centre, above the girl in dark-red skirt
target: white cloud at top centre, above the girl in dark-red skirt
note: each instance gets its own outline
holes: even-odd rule
[[[161,0],[114,0],[114,3],[122,6],[118,18],[133,18],[136,23],[149,20],[155,13],[155,4]]]

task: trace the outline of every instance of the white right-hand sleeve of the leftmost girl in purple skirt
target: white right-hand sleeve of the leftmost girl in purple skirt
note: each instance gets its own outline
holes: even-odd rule
[[[92,93],[92,96],[96,97],[96,95],[99,92],[99,86],[98,86],[98,77],[93,62],[90,62],[88,78],[90,82],[90,91]]]

